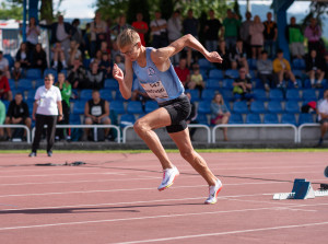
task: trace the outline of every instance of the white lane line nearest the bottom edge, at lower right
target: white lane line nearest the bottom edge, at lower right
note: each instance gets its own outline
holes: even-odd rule
[[[198,239],[198,237],[208,237],[208,236],[218,236],[218,235],[230,235],[230,234],[241,234],[241,233],[250,233],[250,232],[260,232],[260,231],[274,231],[282,229],[292,229],[292,228],[306,228],[306,226],[317,226],[326,225],[328,222],[316,222],[316,223],[304,223],[304,224],[294,224],[294,225],[279,225],[272,228],[259,228],[259,229],[249,229],[249,230],[239,230],[239,231],[226,231],[226,232],[216,232],[208,234],[195,234],[195,235],[180,235],[166,239],[152,239],[152,240],[142,240],[142,241],[131,241],[131,242],[118,242],[116,244],[137,244],[137,243],[150,243],[150,242],[167,242],[176,240],[186,240],[186,239]]]

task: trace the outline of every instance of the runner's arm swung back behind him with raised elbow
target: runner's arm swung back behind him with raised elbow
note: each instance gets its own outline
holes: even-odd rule
[[[190,47],[201,53],[210,62],[222,62],[223,59],[216,51],[209,53],[192,35],[185,35],[169,44],[167,47],[155,49],[151,53],[155,63],[163,63],[172,56],[181,51],[185,47]]]

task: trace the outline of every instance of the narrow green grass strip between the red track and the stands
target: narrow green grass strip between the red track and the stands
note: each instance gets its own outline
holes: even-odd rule
[[[197,152],[328,152],[328,149],[197,149]],[[30,153],[31,150],[0,150],[1,153]],[[39,150],[45,153],[45,150]],[[177,149],[168,149],[166,152],[178,152]],[[150,150],[56,150],[55,153],[151,153]]]

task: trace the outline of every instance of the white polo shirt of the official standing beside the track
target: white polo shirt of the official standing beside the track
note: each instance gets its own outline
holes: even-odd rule
[[[61,101],[59,88],[51,85],[49,90],[45,85],[36,90],[34,98],[37,102],[36,114],[58,115],[57,102]]]

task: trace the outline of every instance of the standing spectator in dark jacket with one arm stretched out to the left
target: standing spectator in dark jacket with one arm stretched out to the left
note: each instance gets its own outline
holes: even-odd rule
[[[63,15],[58,16],[58,22],[51,25],[40,25],[42,27],[51,30],[50,44],[56,45],[60,43],[62,50],[65,53],[65,59],[68,59],[68,49],[70,48],[70,38],[72,36],[72,25],[63,21]]]

